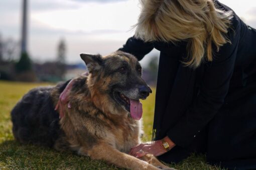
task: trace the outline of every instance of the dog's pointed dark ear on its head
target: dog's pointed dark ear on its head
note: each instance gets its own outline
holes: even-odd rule
[[[93,55],[90,53],[81,53],[82,60],[85,62],[86,67],[90,73],[98,71],[103,63],[102,56],[97,54]]]

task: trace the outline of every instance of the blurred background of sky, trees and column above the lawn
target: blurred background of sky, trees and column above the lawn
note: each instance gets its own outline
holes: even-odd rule
[[[219,0],[256,27],[256,0]],[[1,0],[0,79],[59,81],[86,67],[79,53],[108,54],[133,36],[139,0]],[[155,85],[159,51],[143,58]]]

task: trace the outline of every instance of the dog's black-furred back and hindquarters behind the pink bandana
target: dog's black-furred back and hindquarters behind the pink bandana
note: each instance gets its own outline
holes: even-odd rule
[[[58,84],[58,90],[63,91],[67,83]],[[59,113],[54,110],[52,88],[38,87],[30,90],[13,108],[13,133],[20,142],[51,147],[58,138]]]

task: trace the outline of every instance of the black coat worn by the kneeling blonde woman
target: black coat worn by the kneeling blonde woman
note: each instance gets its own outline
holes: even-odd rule
[[[215,2],[218,8],[231,10]],[[144,42],[131,37],[119,49],[139,60],[154,47],[161,51],[155,139],[168,135],[177,144],[176,158],[171,150],[160,156],[162,160],[178,161],[200,150],[207,152],[208,161],[225,161],[226,167],[249,165],[240,159],[251,159],[251,167],[256,164],[256,30],[236,14],[231,23],[227,33],[231,44],[219,51],[214,48],[213,61],[196,69],[180,62],[187,54],[186,41]],[[175,150],[184,153],[180,159]]]

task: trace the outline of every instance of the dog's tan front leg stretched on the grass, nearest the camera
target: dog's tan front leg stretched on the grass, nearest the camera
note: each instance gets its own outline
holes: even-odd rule
[[[83,150],[83,147],[79,149],[80,153],[90,156],[93,159],[105,160],[109,163],[115,164],[118,167],[124,167],[128,169],[150,169],[157,170],[159,168],[152,164],[140,160],[129,154],[120,152],[119,150],[111,147],[109,144],[101,143],[94,145],[91,149]]]

